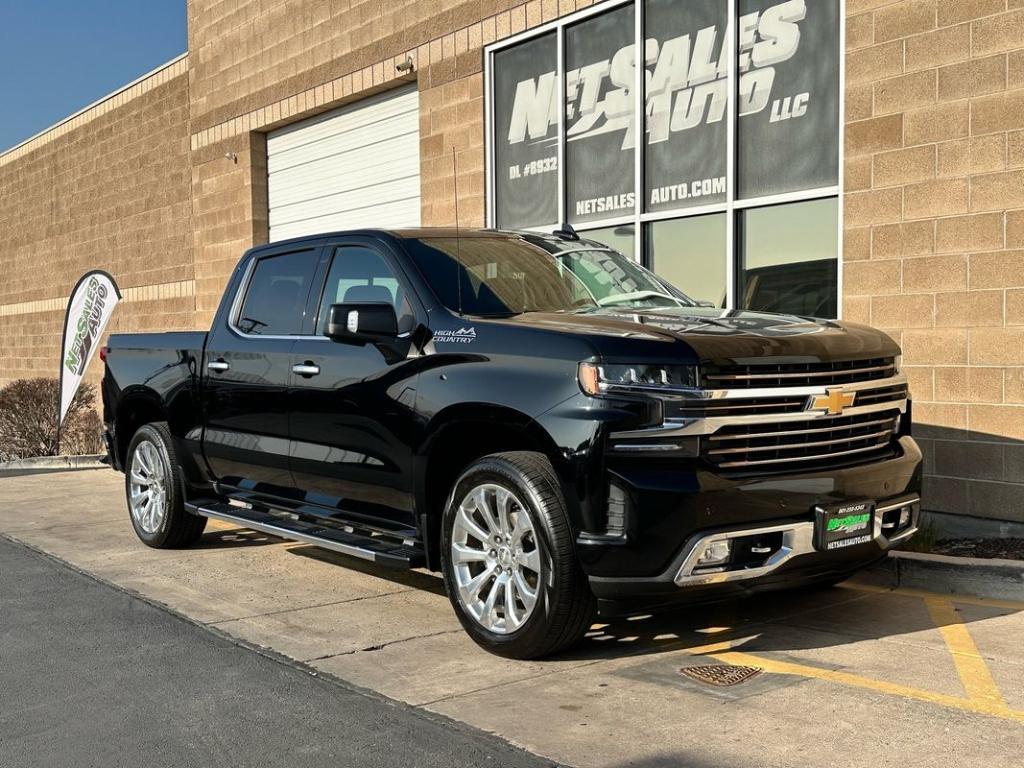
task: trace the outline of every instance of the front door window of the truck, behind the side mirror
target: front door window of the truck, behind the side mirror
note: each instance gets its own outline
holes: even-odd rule
[[[317,333],[325,332],[332,304],[366,302],[391,304],[398,316],[398,331],[412,329],[413,315],[404,291],[384,257],[365,246],[335,249],[321,299]]]

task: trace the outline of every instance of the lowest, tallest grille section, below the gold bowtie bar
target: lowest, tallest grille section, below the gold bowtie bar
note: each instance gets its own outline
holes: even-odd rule
[[[898,410],[788,421],[729,425],[703,440],[702,454],[717,468],[807,471],[894,454]]]

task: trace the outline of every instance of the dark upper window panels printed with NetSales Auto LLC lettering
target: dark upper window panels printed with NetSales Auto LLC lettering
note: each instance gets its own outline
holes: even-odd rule
[[[738,5],[739,191],[744,186],[760,194],[819,184],[818,176],[834,174],[837,162],[838,2],[741,0]],[[647,0],[646,29],[653,34],[647,35],[643,52],[645,210],[724,200],[729,87],[725,6],[720,0]],[[634,209],[634,12],[626,6],[566,29],[564,102],[558,92],[554,34],[496,56],[499,223],[553,220],[551,206],[557,201],[550,198],[551,187],[557,186],[563,103],[570,217],[607,218]],[[807,125],[795,130],[800,123]],[[834,135],[826,146],[820,141],[801,146],[795,140],[829,131]],[[755,148],[776,160],[758,163],[743,157],[744,150]],[[792,150],[810,156],[795,166],[777,161]],[[535,220],[526,220],[530,218]]]

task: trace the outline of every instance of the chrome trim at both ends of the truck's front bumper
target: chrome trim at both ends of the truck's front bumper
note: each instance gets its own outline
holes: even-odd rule
[[[891,510],[910,505],[910,526],[906,530],[901,530],[894,537],[887,537],[882,531],[882,516]],[[918,531],[918,522],[921,514],[921,497],[908,496],[895,501],[889,501],[874,508],[874,530],[873,541],[882,550],[888,550],[900,542],[909,539]],[[724,570],[697,572],[697,560],[700,554],[713,543],[738,539],[740,537],[761,536],[764,534],[782,534],[782,547],[765,563],[756,568],[743,568],[742,570]],[[778,570],[782,565],[794,558],[802,555],[809,555],[817,552],[814,548],[814,523],[813,522],[791,522],[780,525],[755,526],[750,528],[732,528],[729,530],[719,530],[714,534],[698,536],[686,550],[676,572],[675,581],[679,587],[694,587],[710,584],[723,584],[725,582],[738,582],[748,579],[758,579],[767,575],[774,570]]]

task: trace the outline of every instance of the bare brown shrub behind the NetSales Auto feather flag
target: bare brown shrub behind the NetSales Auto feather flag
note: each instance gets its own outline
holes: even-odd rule
[[[56,456],[58,386],[56,379],[18,379],[0,389],[0,461]],[[95,401],[95,387],[82,384],[61,429],[61,454],[102,451]]]

